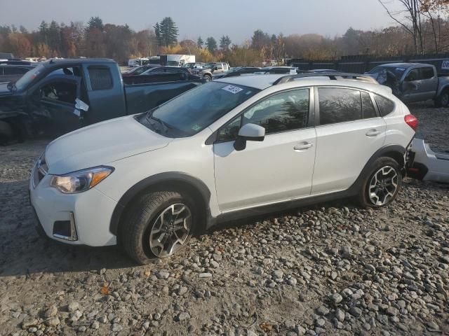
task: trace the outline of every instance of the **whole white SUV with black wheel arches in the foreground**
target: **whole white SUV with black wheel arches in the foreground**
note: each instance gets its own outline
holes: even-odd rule
[[[387,205],[417,120],[368,82],[222,78],[66,134],[32,172],[38,228],[67,244],[119,244],[145,263],[222,221],[340,197]]]

